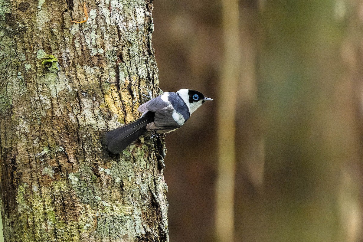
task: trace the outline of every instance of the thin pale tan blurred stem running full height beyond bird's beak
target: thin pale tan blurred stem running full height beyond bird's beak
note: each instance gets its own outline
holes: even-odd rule
[[[222,1],[223,65],[218,88],[218,166],[216,181],[216,237],[234,239],[234,180],[237,89],[241,74],[239,9],[237,0]]]

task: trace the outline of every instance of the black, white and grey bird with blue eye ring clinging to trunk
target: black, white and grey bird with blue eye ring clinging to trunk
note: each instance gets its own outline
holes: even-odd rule
[[[213,99],[190,89],[163,93],[140,105],[138,111],[144,113],[138,120],[107,132],[107,148],[118,154],[147,131],[163,134],[177,130],[205,101]]]

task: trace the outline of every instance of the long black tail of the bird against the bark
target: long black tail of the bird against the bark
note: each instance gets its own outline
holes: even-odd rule
[[[114,154],[121,153],[132,141],[143,135],[147,129],[146,125],[154,121],[154,113],[148,111],[135,122],[126,124],[107,132],[107,149]]]

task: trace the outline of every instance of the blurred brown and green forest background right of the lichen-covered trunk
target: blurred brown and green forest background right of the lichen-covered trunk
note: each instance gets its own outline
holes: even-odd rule
[[[155,0],[171,242],[363,241],[363,1]],[[232,221],[232,222],[231,222]]]

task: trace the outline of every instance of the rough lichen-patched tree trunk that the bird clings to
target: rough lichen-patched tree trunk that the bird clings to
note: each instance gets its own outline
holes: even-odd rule
[[[5,241],[168,241],[162,140],[103,141],[160,92],[151,0],[83,4],[0,0]]]

